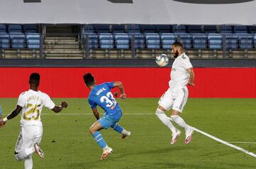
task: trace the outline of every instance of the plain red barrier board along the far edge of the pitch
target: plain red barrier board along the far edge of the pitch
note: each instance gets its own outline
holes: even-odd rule
[[[196,87],[189,88],[193,98],[256,98],[256,68],[195,68]],[[128,67],[1,67],[0,97],[18,97],[28,89],[31,72],[41,74],[40,90],[50,97],[83,98],[89,90],[82,81],[92,72],[97,83],[120,80],[127,97],[159,98],[170,80],[170,68]]]

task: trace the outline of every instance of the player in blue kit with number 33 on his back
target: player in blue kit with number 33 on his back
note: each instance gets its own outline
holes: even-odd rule
[[[114,131],[122,133],[122,138],[131,136],[130,131],[126,131],[122,126],[117,124],[121,119],[122,110],[110,91],[110,89],[114,87],[119,87],[121,92],[120,98],[125,99],[126,95],[124,93],[124,87],[122,82],[105,82],[96,85],[95,79],[90,73],[86,73],[83,76],[83,79],[86,86],[90,89],[88,102],[97,119],[97,121],[90,126],[89,132],[92,134],[92,137],[95,138],[97,144],[103,149],[102,157],[100,159],[104,160],[113,152],[113,150],[107,146],[107,143],[102,138],[102,134],[100,133],[101,129],[108,129],[112,127]],[[105,116],[102,116],[102,118],[100,118],[100,114],[97,111],[97,106],[101,107],[105,111]]]

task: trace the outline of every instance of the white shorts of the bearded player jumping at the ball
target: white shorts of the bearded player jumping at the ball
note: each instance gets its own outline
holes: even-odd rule
[[[169,88],[159,99],[159,105],[166,110],[174,109],[182,112],[188,99],[188,88],[176,87]]]

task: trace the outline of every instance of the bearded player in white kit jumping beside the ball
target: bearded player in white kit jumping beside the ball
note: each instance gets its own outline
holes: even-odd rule
[[[179,116],[188,99],[187,84],[194,86],[193,66],[188,56],[183,51],[183,45],[180,42],[172,44],[172,53],[174,55],[174,63],[171,67],[171,80],[169,81],[169,89],[159,99],[159,107],[156,109],[156,116],[171,129],[172,139],[171,144],[176,143],[181,131],[175,128],[171,123],[174,121],[178,126],[185,129],[185,143],[191,141],[193,129],[188,126],[185,121]],[[165,111],[171,109],[171,118],[166,116]]]

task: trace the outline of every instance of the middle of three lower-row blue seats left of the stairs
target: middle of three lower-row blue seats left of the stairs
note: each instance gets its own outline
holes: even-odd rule
[[[25,35],[23,33],[18,33],[18,32],[11,32],[9,33],[10,38],[11,38],[11,47],[20,49],[20,48],[25,48],[26,46],[26,39]]]

